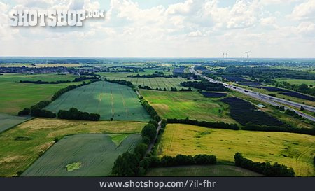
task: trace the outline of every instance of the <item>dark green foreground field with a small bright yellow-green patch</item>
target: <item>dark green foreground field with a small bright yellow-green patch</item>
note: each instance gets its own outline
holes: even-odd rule
[[[106,134],[66,136],[22,176],[108,176],[116,158],[132,152],[139,141],[140,134],[127,136],[118,146]]]

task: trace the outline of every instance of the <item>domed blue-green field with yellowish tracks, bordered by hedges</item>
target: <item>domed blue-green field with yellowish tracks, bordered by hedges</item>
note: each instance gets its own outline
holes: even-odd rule
[[[96,82],[62,94],[47,110],[78,108],[79,111],[99,113],[101,120],[148,121],[150,115],[141,106],[137,94],[125,85]]]

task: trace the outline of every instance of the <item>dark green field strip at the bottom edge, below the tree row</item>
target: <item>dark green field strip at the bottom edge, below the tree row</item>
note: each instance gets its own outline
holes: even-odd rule
[[[262,176],[254,171],[230,165],[184,166],[150,169],[146,176]]]

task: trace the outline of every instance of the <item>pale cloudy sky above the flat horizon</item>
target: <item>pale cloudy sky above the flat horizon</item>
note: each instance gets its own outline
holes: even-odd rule
[[[83,27],[10,27],[13,9],[102,9]],[[0,0],[0,56],[315,57],[315,0]],[[1,59],[1,58],[0,58]]]

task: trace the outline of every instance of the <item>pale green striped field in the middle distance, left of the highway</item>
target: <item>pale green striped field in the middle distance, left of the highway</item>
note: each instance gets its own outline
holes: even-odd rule
[[[127,80],[132,82],[132,84],[138,86],[148,86],[152,89],[155,88],[166,88],[167,91],[171,90],[171,87],[175,87],[177,90],[185,88],[181,86],[182,82],[189,81],[185,78],[121,78],[121,77],[111,77],[110,80]]]

